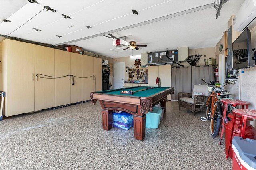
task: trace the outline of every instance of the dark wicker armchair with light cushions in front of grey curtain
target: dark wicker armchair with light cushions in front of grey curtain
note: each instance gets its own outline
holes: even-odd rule
[[[192,99],[192,94],[194,92],[204,93],[204,95],[195,95],[194,99]],[[194,85],[193,93],[178,93],[178,102],[179,102],[179,110],[180,107],[185,107],[193,112],[198,111],[206,111],[206,103],[209,97],[208,88],[206,85]]]

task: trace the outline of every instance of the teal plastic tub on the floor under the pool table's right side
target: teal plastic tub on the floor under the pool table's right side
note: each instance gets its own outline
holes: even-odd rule
[[[146,115],[146,128],[158,128],[160,124],[162,109],[160,107],[153,107],[151,112]]]

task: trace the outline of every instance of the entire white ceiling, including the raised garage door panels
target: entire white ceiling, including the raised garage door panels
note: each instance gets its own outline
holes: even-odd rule
[[[214,0],[0,0],[0,34],[41,43],[62,44],[79,38],[111,32],[122,27],[153,20],[176,12],[213,3]],[[215,8],[208,8],[174,18],[112,32],[116,37],[128,36],[126,41],[147,44],[133,55],[147,51],[164,51],[166,48],[188,46],[190,49],[214,47],[227,29],[227,22],[236,14],[244,0],[230,0],[215,19]],[[57,12],[46,11],[50,6]],[[132,14],[132,9],[138,15]],[[65,19],[61,14],[70,16]],[[74,25],[69,28],[70,25]],[[91,26],[92,29],[87,29]],[[38,28],[42,31],[35,31]],[[58,38],[56,35],[63,36]],[[72,42],[85,51],[107,57],[126,57],[132,50],[114,47],[114,40],[102,35]],[[113,50],[114,52],[113,53]]]

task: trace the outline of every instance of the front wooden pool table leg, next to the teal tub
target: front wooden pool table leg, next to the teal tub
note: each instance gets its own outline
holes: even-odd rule
[[[143,140],[145,137],[146,114],[143,116],[133,116],[134,138]]]

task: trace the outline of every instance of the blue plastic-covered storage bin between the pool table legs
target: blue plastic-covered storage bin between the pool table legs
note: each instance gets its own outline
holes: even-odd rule
[[[113,112],[113,127],[129,130],[133,127],[133,115],[127,112]]]

